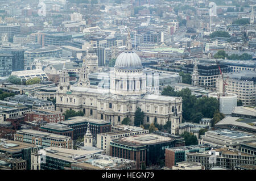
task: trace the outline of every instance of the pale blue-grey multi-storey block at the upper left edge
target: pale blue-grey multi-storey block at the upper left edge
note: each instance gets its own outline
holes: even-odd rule
[[[20,24],[18,23],[0,23],[0,36],[3,41],[7,37],[7,41],[13,43],[14,35],[20,33]]]

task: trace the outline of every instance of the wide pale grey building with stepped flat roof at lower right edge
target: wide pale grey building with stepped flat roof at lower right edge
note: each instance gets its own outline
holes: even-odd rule
[[[232,131],[228,129],[218,129],[205,132],[199,139],[199,144],[209,144],[212,146],[222,146],[224,148],[238,150],[241,144],[255,142],[254,134]]]

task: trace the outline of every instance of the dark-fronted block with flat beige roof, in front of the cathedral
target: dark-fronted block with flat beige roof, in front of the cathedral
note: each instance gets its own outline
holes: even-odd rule
[[[137,163],[137,169],[142,165],[156,165],[159,159],[164,159],[165,148],[175,146],[175,138],[159,134],[143,134],[122,137],[110,142],[110,155],[119,158],[132,159]]]

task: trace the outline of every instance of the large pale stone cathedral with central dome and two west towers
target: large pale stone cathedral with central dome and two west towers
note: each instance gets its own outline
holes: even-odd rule
[[[151,95],[146,92],[146,75],[139,56],[131,49],[130,36],[127,49],[119,54],[114,69],[110,72],[110,90],[90,88],[88,74],[92,72],[86,57],[80,71],[77,86],[69,85],[68,73],[63,68],[56,95],[56,110],[84,112],[85,117],[107,120],[112,125],[121,124],[125,117],[134,123],[137,107],[144,112],[142,124],[166,124],[172,122],[172,133],[176,134],[182,121],[182,99],[174,96]],[[91,66],[92,67],[92,66]],[[94,68],[94,66],[93,66]],[[95,71],[95,69],[93,69]]]

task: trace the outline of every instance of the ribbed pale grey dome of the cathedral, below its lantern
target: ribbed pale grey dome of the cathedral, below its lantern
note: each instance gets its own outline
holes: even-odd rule
[[[118,69],[142,69],[141,58],[133,51],[126,51],[117,57],[114,68]]]

